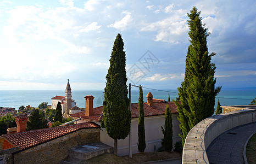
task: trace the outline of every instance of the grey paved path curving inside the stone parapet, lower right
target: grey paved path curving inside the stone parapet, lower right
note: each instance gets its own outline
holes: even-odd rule
[[[248,137],[256,132],[256,122],[232,128],[209,145],[207,156],[210,163],[244,163],[243,147]]]

